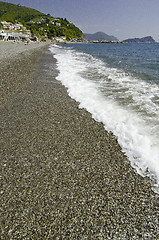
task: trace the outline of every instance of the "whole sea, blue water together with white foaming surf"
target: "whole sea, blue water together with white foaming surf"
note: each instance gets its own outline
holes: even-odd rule
[[[159,44],[54,44],[59,80],[159,193]]]

